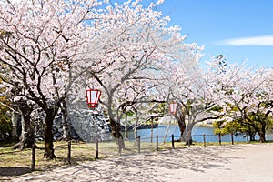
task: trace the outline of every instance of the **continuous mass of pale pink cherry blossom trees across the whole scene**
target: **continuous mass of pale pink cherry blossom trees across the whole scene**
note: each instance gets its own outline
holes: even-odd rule
[[[61,108],[69,116],[81,109],[76,103],[85,102],[88,87],[103,91],[100,106],[116,138],[126,112],[169,101],[179,104],[181,133],[185,116],[189,134],[208,119],[248,123],[255,117],[260,124],[256,130],[264,137],[264,121],[273,108],[272,69],[229,64],[222,55],[200,66],[203,47],[186,44],[181,28],[169,25],[170,17],[157,11],[163,2],[147,7],[137,0],[0,4],[2,96],[24,103],[30,110],[25,115],[30,116],[33,106],[43,109],[45,156],[55,157],[52,125],[57,112]]]

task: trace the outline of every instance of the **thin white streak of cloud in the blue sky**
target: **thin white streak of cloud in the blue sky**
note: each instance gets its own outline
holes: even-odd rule
[[[219,41],[217,45],[273,45],[273,35],[248,36]]]

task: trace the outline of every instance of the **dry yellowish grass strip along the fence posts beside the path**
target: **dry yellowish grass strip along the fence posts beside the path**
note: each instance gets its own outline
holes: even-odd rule
[[[271,141],[272,142],[272,141]],[[258,141],[249,142],[250,144],[258,144]],[[236,144],[248,144],[246,142],[235,142]],[[16,175],[22,175],[31,172],[31,157],[32,149],[26,148],[23,151],[13,149],[14,144],[5,144],[0,147],[0,181],[5,180],[6,177],[12,177]],[[67,154],[68,147],[67,142],[55,142],[55,154],[56,159],[48,160],[44,158],[44,143],[36,143],[37,148],[35,150],[35,171],[45,171],[55,167],[66,167],[68,166]],[[121,150],[119,153],[118,147],[115,141],[107,141],[99,143],[99,158],[106,157],[119,157],[128,155],[137,155],[138,146],[135,142],[125,141],[126,148]],[[222,142],[222,145],[231,145],[230,142]],[[191,147],[201,147],[203,143],[194,142]],[[219,146],[218,142],[207,142],[206,146]],[[175,142],[175,148],[186,148],[185,142]],[[172,149],[172,143],[166,142],[161,143],[158,146],[159,150]],[[140,147],[140,153],[152,153],[156,152],[156,143],[142,142]],[[80,164],[85,161],[93,161],[96,157],[96,144],[95,143],[75,143],[71,145],[71,165]]]

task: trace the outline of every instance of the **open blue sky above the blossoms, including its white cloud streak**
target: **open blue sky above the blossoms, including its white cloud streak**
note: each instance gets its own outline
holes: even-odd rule
[[[159,6],[171,25],[182,27],[187,43],[204,45],[205,56],[273,67],[272,0],[165,0]]]

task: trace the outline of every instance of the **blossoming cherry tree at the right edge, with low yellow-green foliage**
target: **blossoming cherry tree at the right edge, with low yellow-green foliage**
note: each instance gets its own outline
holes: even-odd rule
[[[223,126],[237,121],[250,130],[254,128],[264,142],[272,115],[272,69],[226,64],[223,56],[217,56],[209,65],[216,83],[214,113],[220,116],[217,121]]]

